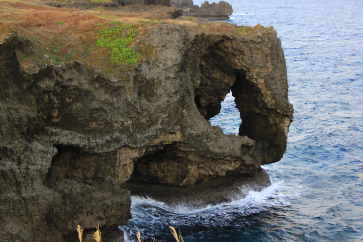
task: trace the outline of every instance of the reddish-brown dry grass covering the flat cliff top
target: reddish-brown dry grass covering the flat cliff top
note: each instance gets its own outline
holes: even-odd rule
[[[148,57],[151,51],[146,47],[138,48],[140,53],[136,54],[132,54],[130,49],[155,26],[169,23],[188,26],[205,33],[251,33],[251,27],[238,27],[222,21],[211,22],[184,16],[172,19],[170,12],[175,9],[171,7],[107,7],[104,5],[107,1],[0,0],[0,39],[17,32],[20,39],[29,40],[35,45],[36,54],[18,53],[19,62],[25,68],[35,62],[60,65],[79,61],[101,68],[105,74],[117,74],[121,70],[131,69],[135,62]],[[112,32],[115,29],[119,31]],[[128,34],[131,30],[132,33]],[[110,50],[119,42],[114,43],[112,41],[116,41],[115,38],[111,38],[108,42],[101,43],[99,39],[102,34],[104,40],[112,37],[112,34],[118,34],[120,39],[128,38],[127,41],[120,42],[124,46],[116,50],[116,54],[121,55],[121,59],[135,60],[111,60]]]

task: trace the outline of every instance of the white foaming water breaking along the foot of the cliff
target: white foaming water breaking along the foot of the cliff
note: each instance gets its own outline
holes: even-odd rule
[[[167,224],[174,227],[180,227],[184,223],[205,228],[216,226],[216,223],[219,226],[229,226],[236,216],[244,217],[267,211],[271,207],[290,205],[290,198],[298,193],[298,184],[286,186],[280,178],[283,169],[279,169],[279,165],[269,164],[264,165],[264,168],[271,178],[272,184],[269,187],[261,191],[254,191],[248,186],[240,187],[241,193],[233,195],[230,198],[232,202],[218,205],[195,208],[190,204],[179,203],[169,206],[149,197],[131,196],[133,222],[120,227],[125,242],[137,242],[135,239],[138,231],[143,235],[155,235]]]

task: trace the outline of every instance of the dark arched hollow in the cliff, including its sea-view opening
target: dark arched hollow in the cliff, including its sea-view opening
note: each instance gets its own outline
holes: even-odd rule
[[[242,126],[249,129],[250,113],[246,105],[256,103],[251,100],[256,95],[248,97],[246,92],[251,94],[248,89],[257,89],[247,80],[244,70],[234,69],[215,48],[210,47],[210,51],[201,57],[200,82],[194,88],[194,102],[200,115],[210,120],[212,126],[220,126],[225,134],[242,135]]]

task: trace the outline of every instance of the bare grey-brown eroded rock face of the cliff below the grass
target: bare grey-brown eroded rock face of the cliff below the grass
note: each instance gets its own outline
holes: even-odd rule
[[[0,41],[4,241],[57,242],[77,238],[78,224],[124,225],[129,179],[185,187],[258,175],[281,159],[293,109],[272,28],[235,36],[165,24],[142,44],[155,57],[120,79],[77,62],[21,66],[16,53],[31,44],[14,34]],[[208,121],[230,90],[238,136]]]

